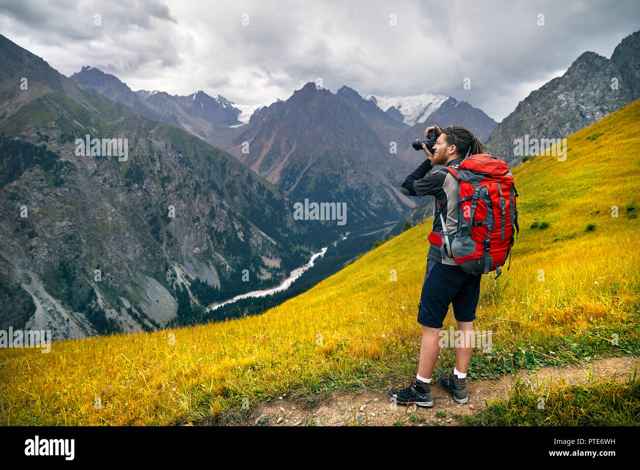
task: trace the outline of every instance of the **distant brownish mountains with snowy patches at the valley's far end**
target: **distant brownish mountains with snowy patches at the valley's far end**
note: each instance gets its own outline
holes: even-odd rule
[[[422,162],[410,144],[424,134],[424,126],[416,123],[412,129],[412,119],[394,118],[375,97],[366,99],[348,86],[331,93],[309,82],[287,100],[256,107],[243,125],[238,120],[241,110],[220,95],[132,91],[114,75],[88,66],[70,79],[227,150],[295,200],[345,202],[354,223],[397,220],[415,207],[398,188],[406,173]],[[394,103],[404,111],[399,103],[411,102],[421,116],[415,121],[429,116],[452,119],[479,135],[488,135],[497,125],[466,102],[420,97],[399,97]]]

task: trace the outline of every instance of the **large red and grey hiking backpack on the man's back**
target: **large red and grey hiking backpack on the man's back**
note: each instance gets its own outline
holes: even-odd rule
[[[507,256],[507,270],[511,267],[513,228],[516,239],[520,233],[518,191],[509,166],[488,153],[479,153],[445,169],[460,182],[458,230],[451,237],[440,213],[443,232],[429,233],[429,242],[442,246],[444,241],[447,257],[456,260],[465,272],[480,275],[496,270],[498,274],[493,279],[497,279]],[[440,207],[437,200],[436,203]]]

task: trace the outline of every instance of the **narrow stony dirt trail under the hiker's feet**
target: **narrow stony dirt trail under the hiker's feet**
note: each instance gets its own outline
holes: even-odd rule
[[[623,382],[629,375],[633,375],[634,361],[639,357],[607,357],[596,359],[590,363],[581,363],[579,366],[545,367],[536,372],[524,371],[523,377],[531,382],[532,386],[548,386],[549,380],[554,384],[559,379],[564,379],[566,385],[588,382],[589,370],[595,379],[609,378],[616,374],[616,382]],[[407,379],[408,382],[408,379]],[[326,398],[315,398],[309,402],[305,397],[290,398],[278,397],[275,400],[267,400],[253,409],[250,416],[245,418],[237,412],[223,419],[227,425],[268,425],[268,426],[341,426],[358,423],[361,425],[390,426],[396,421],[406,425],[434,425],[455,426],[460,419],[453,414],[467,414],[476,412],[486,407],[484,400],[505,398],[506,391],[511,388],[511,375],[501,379],[469,380],[467,393],[469,401],[465,405],[456,403],[451,395],[440,388],[431,380],[431,396],[433,396],[433,408],[419,408],[397,406],[394,408],[386,391],[350,391],[349,393],[334,392]],[[399,386],[400,384],[393,384]],[[406,384],[403,384],[406,385]],[[442,416],[445,411],[446,416]],[[417,415],[411,419],[410,415]]]

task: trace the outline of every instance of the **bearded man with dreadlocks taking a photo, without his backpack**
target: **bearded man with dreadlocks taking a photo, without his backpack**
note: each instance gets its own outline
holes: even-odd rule
[[[465,155],[484,153],[484,146],[468,129],[461,126],[449,126],[440,129],[433,125],[424,131],[436,132],[438,138],[433,145],[433,153],[423,142],[422,150],[427,159],[413,173],[406,177],[401,187],[407,196],[433,196],[436,207],[433,215],[433,231],[443,233],[442,222],[449,236],[454,237],[458,230],[459,184],[456,177],[444,168],[431,171],[435,165],[453,166],[463,161]],[[433,136],[433,134],[432,134]],[[434,136],[435,137],[435,136]],[[440,355],[440,331],[444,318],[453,304],[453,313],[458,323],[458,331],[463,334],[463,347],[456,348],[456,366],[449,373],[441,373],[438,382],[458,403],[467,403],[465,379],[474,346],[470,344],[470,334],[475,336],[474,319],[480,295],[480,278],[476,274],[465,272],[453,258],[442,256],[440,246],[431,244],[427,254],[427,267],[422,284],[422,294],[418,308],[418,323],[422,325],[420,343],[420,362],[417,375],[413,375],[406,387],[391,388],[389,396],[396,396],[401,405],[415,403],[420,407],[433,407],[431,398],[431,375]],[[472,332],[472,333],[468,333]]]

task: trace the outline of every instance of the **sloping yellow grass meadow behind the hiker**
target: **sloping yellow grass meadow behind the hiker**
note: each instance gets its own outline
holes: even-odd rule
[[[520,236],[511,269],[483,276],[476,329],[493,332],[494,352],[474,352],[471,379],[515,358],[534,367],[637,352],[638,122],[640,100],[568,136],[566,161],[538,155],[513,169]],[[283,393],[406,382],[430,229],[431,219],[264,315],[63,341],[48,354],[0,350],[0,423],[211,423]]]

